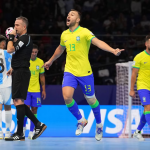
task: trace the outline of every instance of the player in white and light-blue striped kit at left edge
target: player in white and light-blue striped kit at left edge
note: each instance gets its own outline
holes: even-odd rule
[[[12,55],[4,50],[6,47],[6,38],[0,35],[0,139],[3,139],[2,131],[2,105],[5,108],[6,132],[5,138],[10,137],[10,127],[12,121],[11,112],[11,77],[7,76],[7,71],[11,67]]]

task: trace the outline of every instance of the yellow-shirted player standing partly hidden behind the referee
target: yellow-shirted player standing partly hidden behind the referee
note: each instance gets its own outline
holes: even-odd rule
[[[27,98],[25,100],[25,104],[28,107],[31,107],[31,110],[33,114],[37,117],[37,109],[38,107],[41,107],[41,95],[40,95],[40,83],[42,85],[42,98],[46,98],[46,92],[45,92],[45,75],[44,75],[44,68],[42,67],[44,62],[40,58],[37,57],[38,54],[38,46],[33,44],[33,50],[31,53],[31,59],[30,59],[30,82],[28,87],[28,93]],[[39,83],[40,78],[40,83]],[[27,117],[24,119],[24,134],[26,130],[26,122]],[[28,135],[29,139],[32,139],[33,136],[33,130],[34,130],[34,124],[31,121],[30,123],[30,132]]]

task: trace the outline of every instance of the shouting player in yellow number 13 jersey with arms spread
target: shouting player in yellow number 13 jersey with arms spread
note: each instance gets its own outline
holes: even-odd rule
[[[67,16],[66,22],[69,29],[62,33],[60,45],[57,47],[50,60],[44,64],[44,67],[49,69],[53,61],[55,61],[66,49],[67,58],[62,83],[62,93],[69,111],[78,120],[76,135],[80,135],[87,124],[87,120],[83,118],[77,103],[73,99],[74,90],[79,84],[87,102],[92,107],[96,119],[95,138],[99,141],[102,138],[103,132],[100,105],[95,97],[94,77],[88,59],[90,44],[92,43],[115,55],[118,55],[118,53],[121,53],[123,50],[113,49],[105,42],[98,40],[91,31],[80,27],[79,22],[80,12],[71,10]]]

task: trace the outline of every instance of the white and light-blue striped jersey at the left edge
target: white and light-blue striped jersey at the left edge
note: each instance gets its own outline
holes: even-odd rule
[[[12,55],[7,50],[0,49],[0,88],[11,86],[11,76],[7,76],[7,71],[11,68]]]

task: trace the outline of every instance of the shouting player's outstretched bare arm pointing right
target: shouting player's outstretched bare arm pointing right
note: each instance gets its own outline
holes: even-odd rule
[[[102,49],[102,50],[105,50],[105,51],[108,51],[108,52],[111,52],[113,53],[114,55],[118,56],[120,55],[120,53],[122,51],[124,51],[124,49],[113,49],[112,47],[110,47],[108,44],[106,44],[105,42],[99,40],[98,38],[93,38],[92,39],[92,44],[97,46],[98,48]]]

